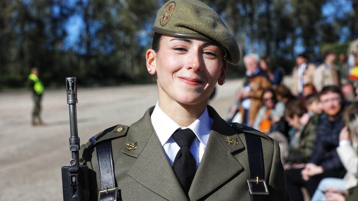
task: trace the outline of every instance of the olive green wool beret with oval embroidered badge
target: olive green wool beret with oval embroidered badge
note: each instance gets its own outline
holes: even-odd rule
[[[211,41],[224,49],[227,62],[237,64],[240,61],[234,36],[219,15],[200,1],[168,1],[159,9],[153,31],[178,38]]]

